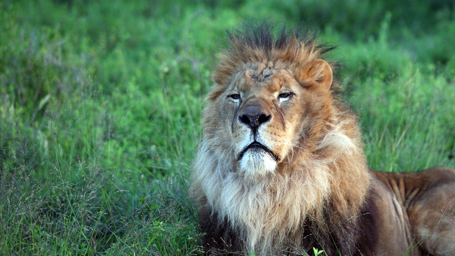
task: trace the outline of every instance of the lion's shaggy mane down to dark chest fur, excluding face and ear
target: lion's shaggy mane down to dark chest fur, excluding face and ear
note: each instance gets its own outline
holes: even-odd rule
[[[324,108],[310,109],[301,119],[298,143],[273,174],[241,175],[231,145],[220,139],[226,134],[217,133],[223,122],[218,95],[237,72],[254,62],[279,61],[301,81],[305,65],[332,47],[296,29],[275,36],[266,24],[228,33],[228,41],[212,74],[216,85],[202,112],[203,138],[192,174],[192,197],[203,230],[209,230],[204,246],[275,255],[316,246],[328,255],[354,254],[370,174],[357,117],[332,92],[315,97]]]

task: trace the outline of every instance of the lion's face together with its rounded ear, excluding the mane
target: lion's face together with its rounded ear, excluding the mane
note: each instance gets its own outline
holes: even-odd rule
[[[227,135],[223,143],[232,147],[235,169],[246,178],[259,179],[292,161],[294,146],[311,128],[303,117],[323,111],[324,91],[332,84],[332,69],[324,60],[311,60],[298,81],[280,59],[244,63],[222,84],[222,92],[209,96],[222,113],[217,132]]]

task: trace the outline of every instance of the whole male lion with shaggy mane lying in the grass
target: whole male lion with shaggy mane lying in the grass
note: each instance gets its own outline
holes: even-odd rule
[[[192,174],[208,252],[455,255],[455,169],[370,171],[331,48],[264,24],[228,39]]]

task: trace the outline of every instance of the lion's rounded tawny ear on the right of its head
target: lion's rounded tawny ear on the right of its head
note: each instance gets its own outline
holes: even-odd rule
[[[322,90],[329,91],[334,75],[327,61],[317,59],[303,68],[299,78],[300,80],[298,82],[304,86],[316,86]]]

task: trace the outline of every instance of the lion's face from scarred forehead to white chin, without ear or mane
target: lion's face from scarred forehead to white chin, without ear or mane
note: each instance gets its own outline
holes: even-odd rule
[[[218,97],[223,101],[219,118],[227,120],[223,122],[225,136],[238,168],[246,175],[274,171],[298,149],[294,147],[302,137],[303,119],[321,108],[313,90],[298,83],[286,69],[270,66],[238,72]]]

